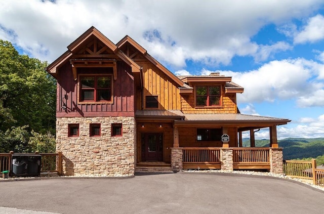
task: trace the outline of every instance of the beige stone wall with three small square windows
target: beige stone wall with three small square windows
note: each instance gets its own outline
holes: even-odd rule
[[[68,137],[68,124],[79,124],[79,137]],[[90,123],[101,124],[101,136],[90,137]],[[111,124],[122,123],[123,136],[111,136]],[[57,117],[56,151],[63,155],[67,176],[134,176],[134,117]]]

